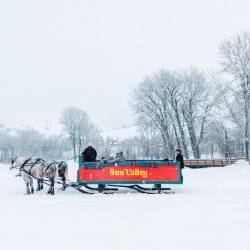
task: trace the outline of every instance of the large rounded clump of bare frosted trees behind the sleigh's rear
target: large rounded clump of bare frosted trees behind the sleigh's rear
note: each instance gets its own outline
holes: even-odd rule
[[[161,133],[167,156],[173,158],[174,146],[178,146],[189,158],[188,135],[194,157],[200,158],[200,144],[214,101],[202,72],[192,67],[180,72],[160,70],[144,78],[134,100],[139,120],[148,117]]]

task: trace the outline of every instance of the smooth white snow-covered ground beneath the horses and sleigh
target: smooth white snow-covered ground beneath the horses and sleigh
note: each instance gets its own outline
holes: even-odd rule
[[[250,167],[183,172],[171,195],[27,196],[0,165],[0,249],[249,250]]]

